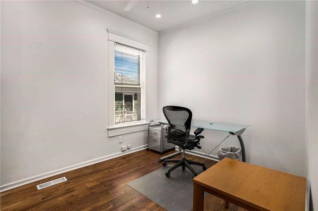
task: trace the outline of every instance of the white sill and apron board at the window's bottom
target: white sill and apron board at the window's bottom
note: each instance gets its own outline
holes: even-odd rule
[[[108,137],[148,130],[148,122],[108,127]]]

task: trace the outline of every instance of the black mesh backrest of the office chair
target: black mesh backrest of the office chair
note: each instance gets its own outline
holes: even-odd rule
[[[191,119],[192,119],[192,112],[189,108],[180,107],[180,106],[164,106],[163,107],[163,114],[167,119],[170,129],[178,129],[184,132],[183,137],[172,137],[176,139],[176,141],[185,141],[185,132],[187,129],[191,128]]]

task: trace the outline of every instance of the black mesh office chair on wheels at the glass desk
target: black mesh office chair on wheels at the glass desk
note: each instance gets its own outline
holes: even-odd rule
[[[197,128],[194,131],[195,135],[190,135],[192,112],[189,108],[180,106],[164,106],[163,114],[168,121],[165,133],[167,141],[179,146],[182,150],[181,160],[168,159],[164,160],[162,163],[163,166],[165,166],[168,162],[176,163],[168,170],[167,173],[165,173],[165,176],[169,177],[170,172],[180,166],[182,166],[182,170],[185,170],[185,167],[187,167],[194,174],[194,177],[197,176],[198,174],[194,171],[190,164],[202,166],[203,170],[206,170],[207,168],[203,163],[185,159],[185,150],[192,150],[194,147],[201,149],[201,146],[199,146],[200,139],[204,138],[204,136],[199,134],[203,131],[203,128]]]

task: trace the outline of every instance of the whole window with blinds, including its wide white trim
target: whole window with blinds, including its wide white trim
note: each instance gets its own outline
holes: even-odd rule
[[[147,130],[146,69],[153,67],[151,44],[108,32],[108,137]]]

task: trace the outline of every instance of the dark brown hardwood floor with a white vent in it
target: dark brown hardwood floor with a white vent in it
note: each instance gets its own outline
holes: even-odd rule
[[[157,160],[161,156],[142,150],[5,191],[0,194],[0,210],[165,211],[127,185],[159,169],[162,165]],[[207,168],[215,164],[215,161],[193,155],[187,155],[187,158],[203,162]],[[39,191],[36,188],[38,184],[64,176],[68,181]],[[223,203],[223,200],[208,195],[205,211],[243,211],[231,204],[225,209]]]

